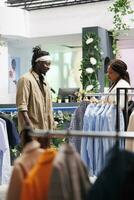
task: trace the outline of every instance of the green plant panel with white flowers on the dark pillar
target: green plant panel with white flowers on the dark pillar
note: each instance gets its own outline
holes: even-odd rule
[[[102,67],[102,49],[100,38],[95,32],[86,33],[83,37],[83,52],[81,61],[80,81],[83,90],[97,92],[99,90],[98,70]]]

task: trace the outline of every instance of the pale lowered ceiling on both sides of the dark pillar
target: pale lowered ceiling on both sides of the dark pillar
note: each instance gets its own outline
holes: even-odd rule
[[[23,38],[4,36],[4,39],[14,48],[32,48],[41,45],[51,51],[74,51],[82,46],[82,34],[70,34],[39,38]],[[118,44],[121,48],[134,48],[134,29],[123,31]]]

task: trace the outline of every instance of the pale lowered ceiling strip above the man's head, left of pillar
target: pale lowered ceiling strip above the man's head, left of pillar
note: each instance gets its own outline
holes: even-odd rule
[[[45,46],[50,50],[69,50],[73,51],[82,46],[82,34],[71,34],[39,38],[9,37],[4,39],[14,48],[31,48],[35,45]]]

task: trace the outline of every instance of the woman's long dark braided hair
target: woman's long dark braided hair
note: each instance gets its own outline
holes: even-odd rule
[[[121,79],[124,79],[130,84],[130,77],[127,71],[127,65],[125,62],[119,59],[111,61],[110,67],[120,75]]]

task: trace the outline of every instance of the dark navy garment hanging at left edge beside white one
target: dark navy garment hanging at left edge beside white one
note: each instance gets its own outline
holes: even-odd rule
[[[4,119],[6,122],[9,146],[11,148],[14,148],[15,145],[20,143],[19,133],[17,132],[15,124],[13,121],[11,121],[10,119],[8,119],[6,116],[2,114],[0,114],[0,118]]]

